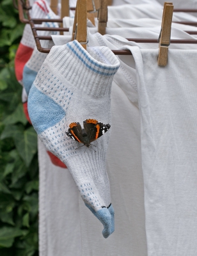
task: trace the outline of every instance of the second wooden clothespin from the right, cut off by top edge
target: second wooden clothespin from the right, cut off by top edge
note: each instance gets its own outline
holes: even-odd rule
[[[100,0],[98,32],[101,35],[105,35],[106,27],[107,27],[107,0]]]

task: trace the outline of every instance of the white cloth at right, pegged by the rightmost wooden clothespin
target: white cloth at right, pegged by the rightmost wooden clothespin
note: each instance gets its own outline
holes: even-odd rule
[[[197,51],[130,47],[136,62],[148,256],[197,252]]]

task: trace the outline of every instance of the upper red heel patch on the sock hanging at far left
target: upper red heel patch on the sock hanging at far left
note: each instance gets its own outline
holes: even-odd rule
[[[18,81],[22,80],[22,72],[24,65],[28,62],[33,49],[23,44],[19,44],[19,48],[17,49],[15,56],[15,75]]]

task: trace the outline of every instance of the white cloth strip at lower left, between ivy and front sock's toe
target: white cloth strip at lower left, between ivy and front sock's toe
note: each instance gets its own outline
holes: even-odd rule
[[[54,166],[38,140],[39,255],[81,255],[79,191],[68,169]]]

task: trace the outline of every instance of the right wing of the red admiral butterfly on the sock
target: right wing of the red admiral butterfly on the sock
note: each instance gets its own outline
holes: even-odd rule
[[[111,125],[99,123],[95,119],[87,119],[83,122],[83,125],[84,129],[88,133],[88,136],[90,137],[90,142],[97,140],[111,127]]]

